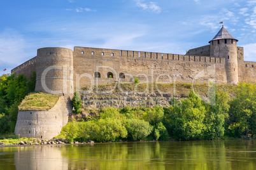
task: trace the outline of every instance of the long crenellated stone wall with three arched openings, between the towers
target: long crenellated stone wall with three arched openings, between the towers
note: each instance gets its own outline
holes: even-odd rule
[[[99,72],[101,77],[97,78],[96,72]],[[108,72],[113,73],[112,78],[108,78]],[[120,77],[122,74],[125,79]],[[76,88],[96,85],[97,82],[131,82],[134,81],[134,75],[140,82],[193,83],[198,79],[199,83],[203,84],[215,78],[217,84],[227,82],[225,58],[75,47]]]

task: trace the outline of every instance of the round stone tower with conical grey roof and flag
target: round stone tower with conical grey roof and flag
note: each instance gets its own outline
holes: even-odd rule
[[[218,34],[209,42],[210,56],[225,58],[227,84],[238,84],[238,53],[237,39],[222,26]]]

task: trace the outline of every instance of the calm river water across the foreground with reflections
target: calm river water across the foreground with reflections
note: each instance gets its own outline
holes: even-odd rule
[[[256,169],[256,140],[0,148],[0,169]]]

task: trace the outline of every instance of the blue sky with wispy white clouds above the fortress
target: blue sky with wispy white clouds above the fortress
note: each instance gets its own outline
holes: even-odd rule
[[[45,47],[183,55],[208,45],[220,22],[256,62],[256,0],[0,0],[0,21],[0,75]]]

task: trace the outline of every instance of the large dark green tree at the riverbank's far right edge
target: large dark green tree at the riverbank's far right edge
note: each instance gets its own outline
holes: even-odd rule
[[[256,133],[256,84],[240,82],[236,98],[230,101],[227,131],[229,136],[255,135]]]

